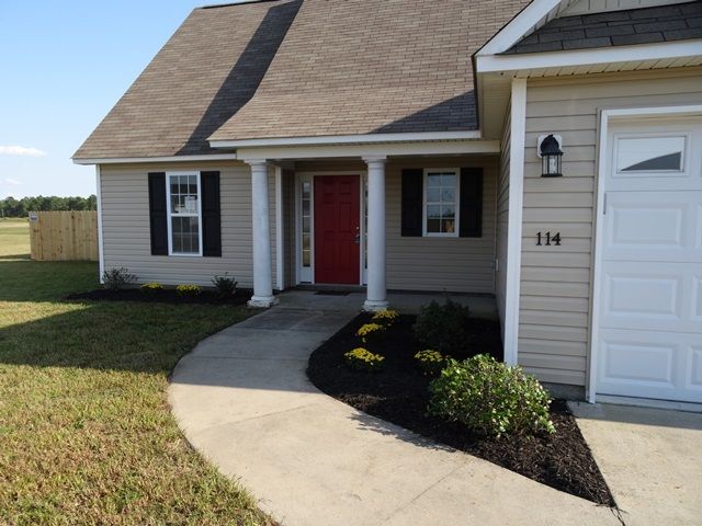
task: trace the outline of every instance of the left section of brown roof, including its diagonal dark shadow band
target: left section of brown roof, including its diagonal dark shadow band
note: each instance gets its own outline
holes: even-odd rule
[[[73,158],[216,152],[207,137],[253,96],[301,3],[195,9]]]

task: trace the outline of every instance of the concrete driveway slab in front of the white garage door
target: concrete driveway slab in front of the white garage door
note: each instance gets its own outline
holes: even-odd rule
[[[627,525],[702,524],[702,414],[570,408]]]

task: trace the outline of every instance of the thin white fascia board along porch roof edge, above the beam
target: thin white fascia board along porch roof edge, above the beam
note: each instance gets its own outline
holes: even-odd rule
[[[480,130],[475,129],[468,132],[426,132],[418,134],[325,135],[319,137],[211,140],[210,146],[212,148],[260,148],[270,146],[370,145],[378,142],[467,140],[479,138]]]

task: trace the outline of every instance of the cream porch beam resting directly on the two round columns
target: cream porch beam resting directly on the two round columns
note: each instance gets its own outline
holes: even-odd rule
[[[237,158],[252,159],[329,159],[367,158],[373,156],[455,156],[469,153],[499,153],[499,140],[464,140],[446,142],[398,142],[389,145],[347,146],[288,146],[269,148],[240,148]]]

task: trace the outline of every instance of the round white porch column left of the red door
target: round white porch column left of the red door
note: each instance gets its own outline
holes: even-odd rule
[[[271,264],[271,221],[268,196],[268,162],[264,159],[247,161],[251,167],[251,209],[253,244],[253,296],[249,307],[272,307],[273,266]]]

